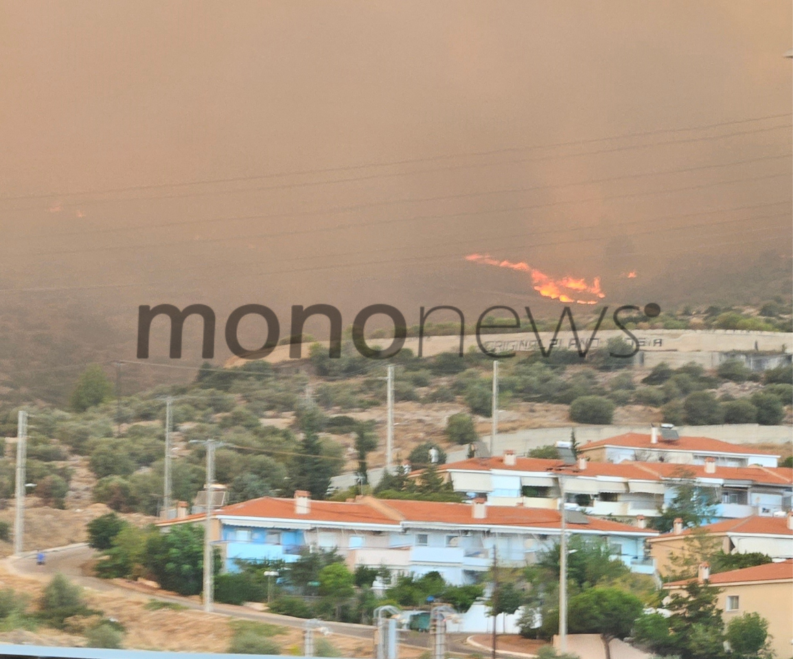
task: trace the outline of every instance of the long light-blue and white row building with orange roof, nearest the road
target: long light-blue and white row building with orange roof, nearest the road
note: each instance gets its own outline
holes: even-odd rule
[[[204,515],[163,520],[201,523]],[[211,538],[228,570],[236,559],[296,561],[303,550],[337,550],[351,569],[358,565],[391,573],[442,574],[451,584],[471,583],[492,564],[525,565],[558,542],[561,514],[547,508],[488,506],[426,501],[379,500],[372,496],[347,502],[312,501],[308,493],[293,499],[264,497],[220,508],[213,514]],[[656,531],[567,511],[569,534],[603,539],[615,559],[635,572],[653,573],[646,538]]]

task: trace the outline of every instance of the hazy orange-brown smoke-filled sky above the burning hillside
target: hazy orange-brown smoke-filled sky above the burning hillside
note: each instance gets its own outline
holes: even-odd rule
[[[561,306],[472,254],[784,293],[791,45],[759,0],[2,2],[0,304]]]

